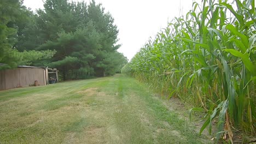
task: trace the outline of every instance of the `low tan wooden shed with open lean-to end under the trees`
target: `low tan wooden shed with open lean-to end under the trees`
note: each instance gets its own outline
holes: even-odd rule
[[[34,86],[37,81],[39,86],[49,84],[49,73],[55,74],[55,82],[59,81],[57,69],[48,67],[32,67],[21,65],[16,69],[0,70],[0,90]]]

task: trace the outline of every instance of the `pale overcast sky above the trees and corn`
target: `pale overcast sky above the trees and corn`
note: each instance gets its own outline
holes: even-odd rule
[[[82,1],[82,0],[77,0]],[[89,3],[90,0],[85,0]],[[102,3],[106,12],[114,17],[119,29],[119,52],[131,59],[139,49],[154,38],[161,28],[174,17],[185,15],[193,0],[95,0]],[[24,0],[24,5],[36,10],[43,9],[43,0]]]

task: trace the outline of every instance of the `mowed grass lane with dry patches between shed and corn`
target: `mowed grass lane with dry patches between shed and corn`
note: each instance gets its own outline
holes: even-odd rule
[[[0,91],[0,143],[203,143],[125,75]]]

